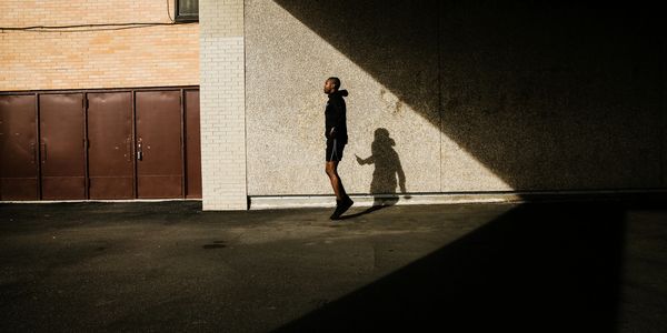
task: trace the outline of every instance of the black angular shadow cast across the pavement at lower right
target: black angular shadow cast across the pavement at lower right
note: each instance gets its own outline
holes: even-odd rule
[[[615,332],[623,204],[525,204],[277,332]]]

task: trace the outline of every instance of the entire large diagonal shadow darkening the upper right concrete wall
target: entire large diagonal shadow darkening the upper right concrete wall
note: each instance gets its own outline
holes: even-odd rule
[[[517,191],[660,184],[659,10],[275,1]]]

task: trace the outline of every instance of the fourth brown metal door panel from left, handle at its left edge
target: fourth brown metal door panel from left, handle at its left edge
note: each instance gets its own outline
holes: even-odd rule
[[[137,198],[182,198],[180,91],[139,91]]]

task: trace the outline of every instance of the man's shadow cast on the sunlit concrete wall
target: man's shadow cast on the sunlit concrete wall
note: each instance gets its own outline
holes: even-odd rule
[[[357,163],[360,165],[375,165],[372,181],[370,182],[370,194],[374,195],[374,203],[371,208],[342,219],[357,218],[396,204],[399,199],[396,192],[397,188],[400,189],[401,193],[407,193],[406,174],[398,153],[394,150],[395,145],[396,141],[389,137],[389,131],[379,128],[375,130],[375,140],[370,145],[371,155],[367,159],[355,155]]]

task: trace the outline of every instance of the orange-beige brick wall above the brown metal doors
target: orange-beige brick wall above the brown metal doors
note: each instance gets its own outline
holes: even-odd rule
[[[173,18],[173,0],[4,0],[0,26],[169,23],[168,6]],[[3,30],[0,91],[199,84],[198,23],[118,28]]]

